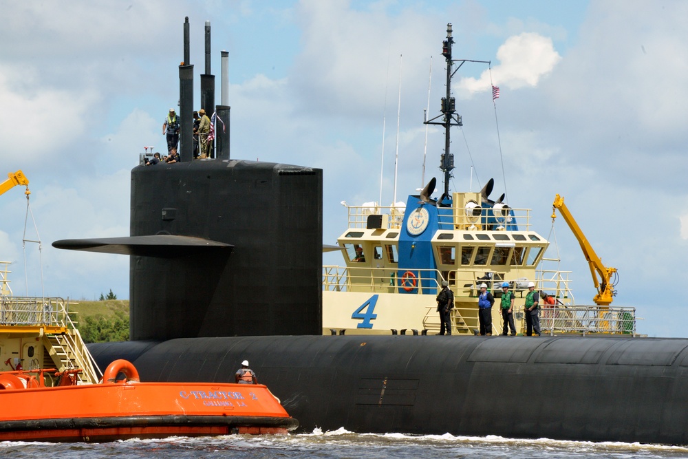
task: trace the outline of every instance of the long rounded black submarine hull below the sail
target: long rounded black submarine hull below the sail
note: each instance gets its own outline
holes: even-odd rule
[[[300,431],[688,444],[688,339],[218,337],[89,345],[145,381],[248,359]]]

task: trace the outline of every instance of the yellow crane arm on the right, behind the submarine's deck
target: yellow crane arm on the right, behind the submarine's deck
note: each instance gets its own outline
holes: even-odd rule
[[[563,203],[563,196],[555,196],[555,202],[552,204],[552,222],[557,217],[556,210],[559,209],[559,213],[568,227],[573,231],[574,236],[578,239],[579,244],[581,244],[581,249],[583,249],[583,255],[585,259],[588,260],[590,265],[590,274],[592,275],[592,281],[597,289],[597,295],[592,299],[598,306],[609,306],[612,303],[612,297],[616,295],[614,290],[614,284],[612,284],[612,275],[616,273],[616,268],[608,268],[602,264],[602,260],[597,256],[595,251],[590,246],[588,238],[585,237],[580,226],[576,223],[573,215],[568,211],[568,207]],[[599,276],[599,279],[598,279]]]

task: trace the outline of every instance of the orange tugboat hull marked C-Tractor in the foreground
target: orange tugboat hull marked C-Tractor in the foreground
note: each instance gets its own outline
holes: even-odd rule
[[[100,383],[77,385],[80,371],[0,372],[0,441],[286,434],[299,425],[261,384],[141,383],[118,360]]]

